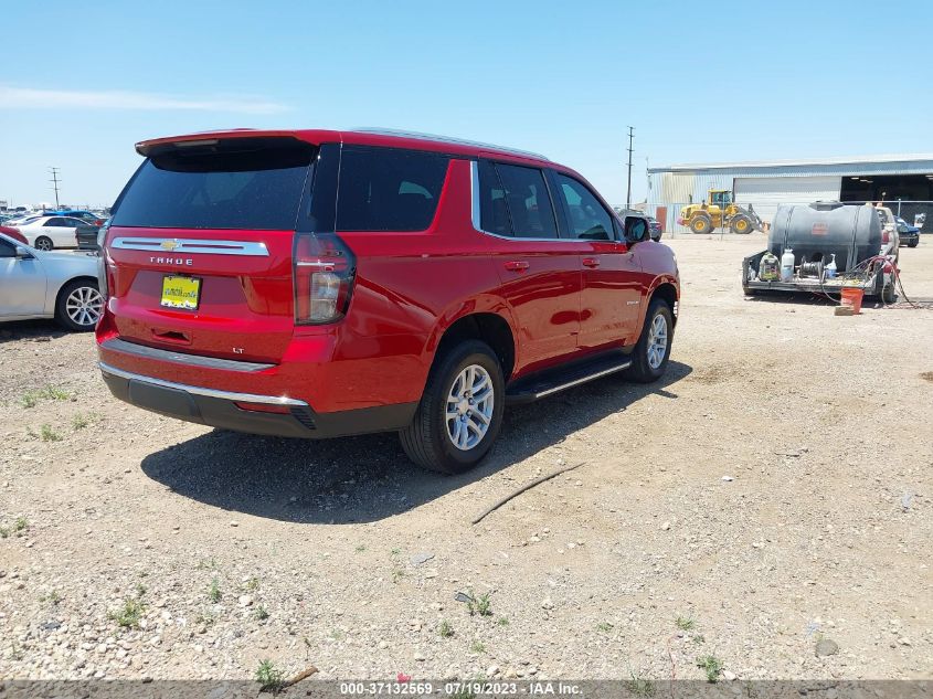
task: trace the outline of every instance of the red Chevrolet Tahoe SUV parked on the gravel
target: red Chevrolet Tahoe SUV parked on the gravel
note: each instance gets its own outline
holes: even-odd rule
[[[399,431],[457,473],[507,403],[667,367],[674,254],[542,156],[375,130],[136,149],[97,326],[104,379],[134,405],[256,434]]]

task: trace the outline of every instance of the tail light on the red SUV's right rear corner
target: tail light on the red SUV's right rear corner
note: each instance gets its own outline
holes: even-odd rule
[[[353,292],[357,260],[333,233],[296,233],[293,255],[295,322],[340,320]]]

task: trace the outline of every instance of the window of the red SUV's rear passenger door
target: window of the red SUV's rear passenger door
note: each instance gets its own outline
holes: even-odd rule
[[[554,208],[541,170],[481,160],[479,190],[484,231],[512,237],[558,237]]]

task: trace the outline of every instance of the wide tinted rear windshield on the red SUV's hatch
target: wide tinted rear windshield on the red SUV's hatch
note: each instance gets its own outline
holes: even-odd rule
[[[295,230],[316,148],[294,139],[170,146],[142,163],[113,224],[156,229]]]

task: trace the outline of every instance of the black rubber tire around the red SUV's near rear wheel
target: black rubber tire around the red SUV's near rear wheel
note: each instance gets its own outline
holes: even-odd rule
[[[485,369],[492,382],[492,413],[489,427],[470,449],[454,445],[447,425],[447,395],[457,377],[471,364]],[[402,448],[418,466],[442,474],[460,474],[476,466],[496,442],[502,426],[506,382],[492,349],[479,340],[467,340],[435,359],[412,424],[400,432]]]

